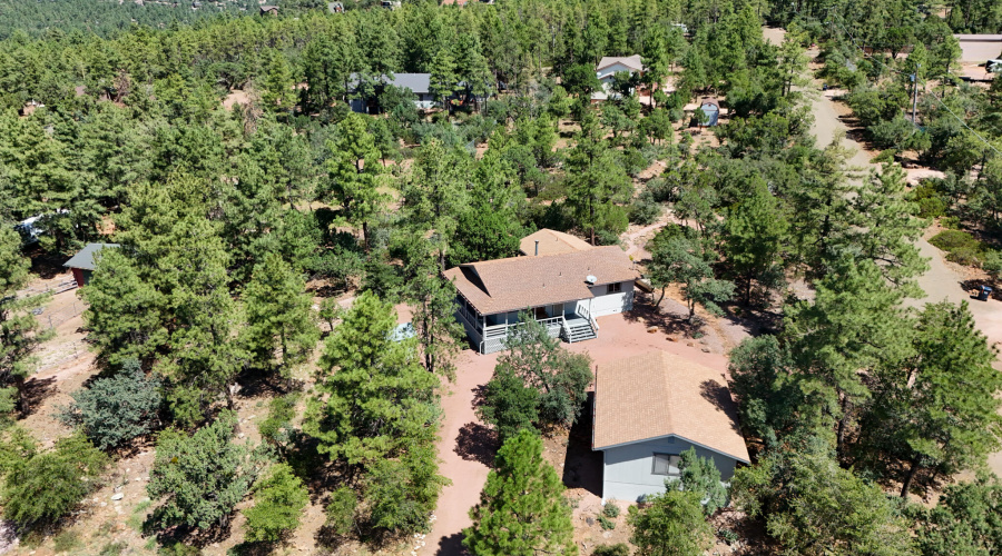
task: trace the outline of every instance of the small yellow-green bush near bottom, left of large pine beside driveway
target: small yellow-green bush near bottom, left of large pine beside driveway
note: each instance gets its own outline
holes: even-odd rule
[[[247,540],[275,542],[299,526],[310,493],[287,464],[272,466],[254,486],[254,507],[246,509]]]

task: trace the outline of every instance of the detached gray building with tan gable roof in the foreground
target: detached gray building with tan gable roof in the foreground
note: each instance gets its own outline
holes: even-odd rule
[[[598,367],[591,448],[602,451],[603,503],[664,493],[689,448],[725,483],[749,463],[723,373],[665,351]]]

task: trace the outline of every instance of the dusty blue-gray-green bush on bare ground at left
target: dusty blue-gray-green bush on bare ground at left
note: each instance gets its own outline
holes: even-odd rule
[[[70,394],[73,403],[62,409],[59,419],[79,426],[98,448],[115,448],[149,433],[158,423],[159,388],[159,380],[147,378],[139,361],[129,359],[115,376]]]

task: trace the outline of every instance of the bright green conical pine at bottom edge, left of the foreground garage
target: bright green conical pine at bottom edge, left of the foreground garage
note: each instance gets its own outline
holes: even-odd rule
[[[542,457],[542,440],[522,430],[494,461],[463,545],[474,556],[578,554],[563,485]]]

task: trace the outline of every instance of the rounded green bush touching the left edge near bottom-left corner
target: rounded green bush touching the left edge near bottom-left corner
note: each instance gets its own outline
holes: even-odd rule
[[[3,516],[22,526],[59,519],[95,488],[108,463],[80,434],[59,440],[8,475]]]

